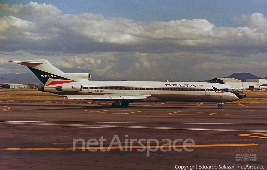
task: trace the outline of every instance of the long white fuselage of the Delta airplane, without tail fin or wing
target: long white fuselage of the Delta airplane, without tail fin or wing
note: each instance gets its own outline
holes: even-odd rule
[[[58,86],[81,87],[81,91],[59,91]],[[213,87],[223,92],[215,92]],[[230,89],[230,90],[228,90]],[[151,97],[132,101],[193,101],[193,102],[231,102],[239,100],[228,85],[207,82],[144,82],[144,81],[90,81],[83,80],[56,85],[46,85],[44,91],[58,95],[137,95],[149,94]],[[97,100],[97,99],[96,99]]]

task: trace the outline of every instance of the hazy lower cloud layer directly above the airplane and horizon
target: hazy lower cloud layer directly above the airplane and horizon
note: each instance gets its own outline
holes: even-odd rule
[[[261,54],[263,55],[263,54]],[[220,55],[179,52],[166,54],[106,52],[87,54],[34,55],[25,51],[0,53],[1,73],[26,73],[30,70],[4,60],[47,59],[64,72],[91,73],[92,80],[200,81],[227,77],[234,72],[250,72],[265,77],[267,62],[262,56],[253,60],[233,59]]]

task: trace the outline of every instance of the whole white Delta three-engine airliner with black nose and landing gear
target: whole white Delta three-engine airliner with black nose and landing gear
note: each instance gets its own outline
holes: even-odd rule
[[[225,102],[246,95],[235,88],[209,82],[90,81],[91,74],[64,73],[47,60],[9,61],[28,66],[44,83],[38,90],[69,99],[115,101],[112,107],[128,107],[133,102]]]

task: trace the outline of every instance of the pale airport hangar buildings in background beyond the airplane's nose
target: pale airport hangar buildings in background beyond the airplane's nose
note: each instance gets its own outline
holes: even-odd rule
[[[242,82],[241,80],[235,78],[214,78],[208,82],[221,83],[234,88],[240,88],[243,86],[244,89],[248,89],[249,86],[258,87],[260,85],[267,84],[266,79],[247,79],[246,82]]]

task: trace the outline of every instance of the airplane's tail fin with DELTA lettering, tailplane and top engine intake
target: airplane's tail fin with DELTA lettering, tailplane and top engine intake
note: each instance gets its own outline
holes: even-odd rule
[[[9,61],[28,66],[36,77],[44,84],[49,79],[77,81],[78,79],[90,79],[91,75],[87,73],[64,73],[53,66],[47,60],[27,60],[27,61]]]

